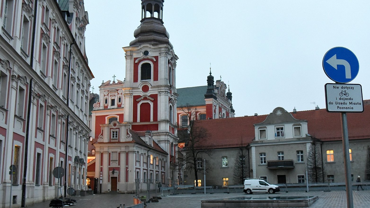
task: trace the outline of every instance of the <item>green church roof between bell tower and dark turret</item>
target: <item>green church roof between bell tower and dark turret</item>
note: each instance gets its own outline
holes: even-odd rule
[[[177,89],[177,107],[186,106],[201,106],[205,105],[204,94],[207,91],[207,86],[185,87]]]

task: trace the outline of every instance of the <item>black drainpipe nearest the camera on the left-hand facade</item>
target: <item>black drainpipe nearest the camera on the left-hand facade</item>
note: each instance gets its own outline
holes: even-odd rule
[[[30,66],[33,68],[33,56],[35,48],[35,34],[36,34],[36,19],[37,19],[37,0],[35,0],[35,9],[33,14],[33,28],[32,28],[32,39],[31,39],[31,55],[30,55]],[[27,177],[27,161],[28,161],[28,138],[30,134],[30,117],[31,117],[31,99],[32,99],[32,81],[30,79],[30,85],[28,90],[28,106],[27,106],[27,126],[26,126],[26,138],[24,141],[24,171],[23,171],[23,182],[22,182],[22,202],[21,207],[26,204],[26,177]]]

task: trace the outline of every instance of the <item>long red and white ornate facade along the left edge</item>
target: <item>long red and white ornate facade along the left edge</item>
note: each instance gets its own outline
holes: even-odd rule
[[[84,54],[88,16],[83,1],[59,4],[0,0],[1,208],[53,199],[57,187],[63,187],[63,195],[68,187],[87,190],[94,77]],[[67,18],[68,13],[73,16]],[[12,180],[11,165],[16,167]],[[64,169],[60,180],[53,176],[55,167]]]

